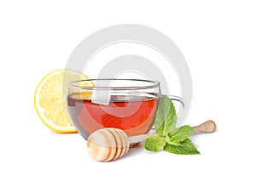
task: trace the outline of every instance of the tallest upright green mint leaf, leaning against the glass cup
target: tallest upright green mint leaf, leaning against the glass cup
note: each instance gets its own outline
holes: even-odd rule
[[[166,95],[160,98],[156,111],[154,128],[160,136],[166,136],[176,128],[177,116],[172,100]]]

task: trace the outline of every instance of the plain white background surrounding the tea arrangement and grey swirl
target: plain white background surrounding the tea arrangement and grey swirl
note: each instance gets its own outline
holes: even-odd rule
[[[0,169],[255,169],[255,8],[224,0],[1,1]],[[201,155],[140,147],[101,163],[78,133],[54,133],[39,120],[33,95],[41,78],[64,68],[94,31],[126,23],[163,32],[185,56],[194,89],[186,123],[218,125],[216,133],[191,137]]]

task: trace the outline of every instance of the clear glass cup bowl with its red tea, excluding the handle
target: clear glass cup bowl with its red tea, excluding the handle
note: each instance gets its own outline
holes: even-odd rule
[[[87,139],[103,127],[122,129],[128,136],[148,133],[159,100],[160,82],[86,79],[69,83],[67,105],[73,125]]]

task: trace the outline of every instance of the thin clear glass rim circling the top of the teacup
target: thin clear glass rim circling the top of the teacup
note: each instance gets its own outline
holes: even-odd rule
[[[93,82],[93,81],[131,81],[131,82],[150,82],[152,84],[146,86],[127,86],[127,87],[107,87],[107,86],[98,86],[98,87],[89,87],[84,85],[75,85],[76,82]],[[148,89],[148,88],[159,88],[160,82],[151,81],[151,80],[143,80],[143,79],[125,79],[125,78],[86,78],[82,80],[77,80],[68,83],[68,87],[72,88],[80,88],[86,90],[134,90],[134,89]]]

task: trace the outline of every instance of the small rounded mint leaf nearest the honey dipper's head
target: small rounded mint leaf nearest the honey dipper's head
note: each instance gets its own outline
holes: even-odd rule
[[[164,138],[160,136],[149,137],[144,144],[144,148],[149,151],[159,151],[166,145]]]

